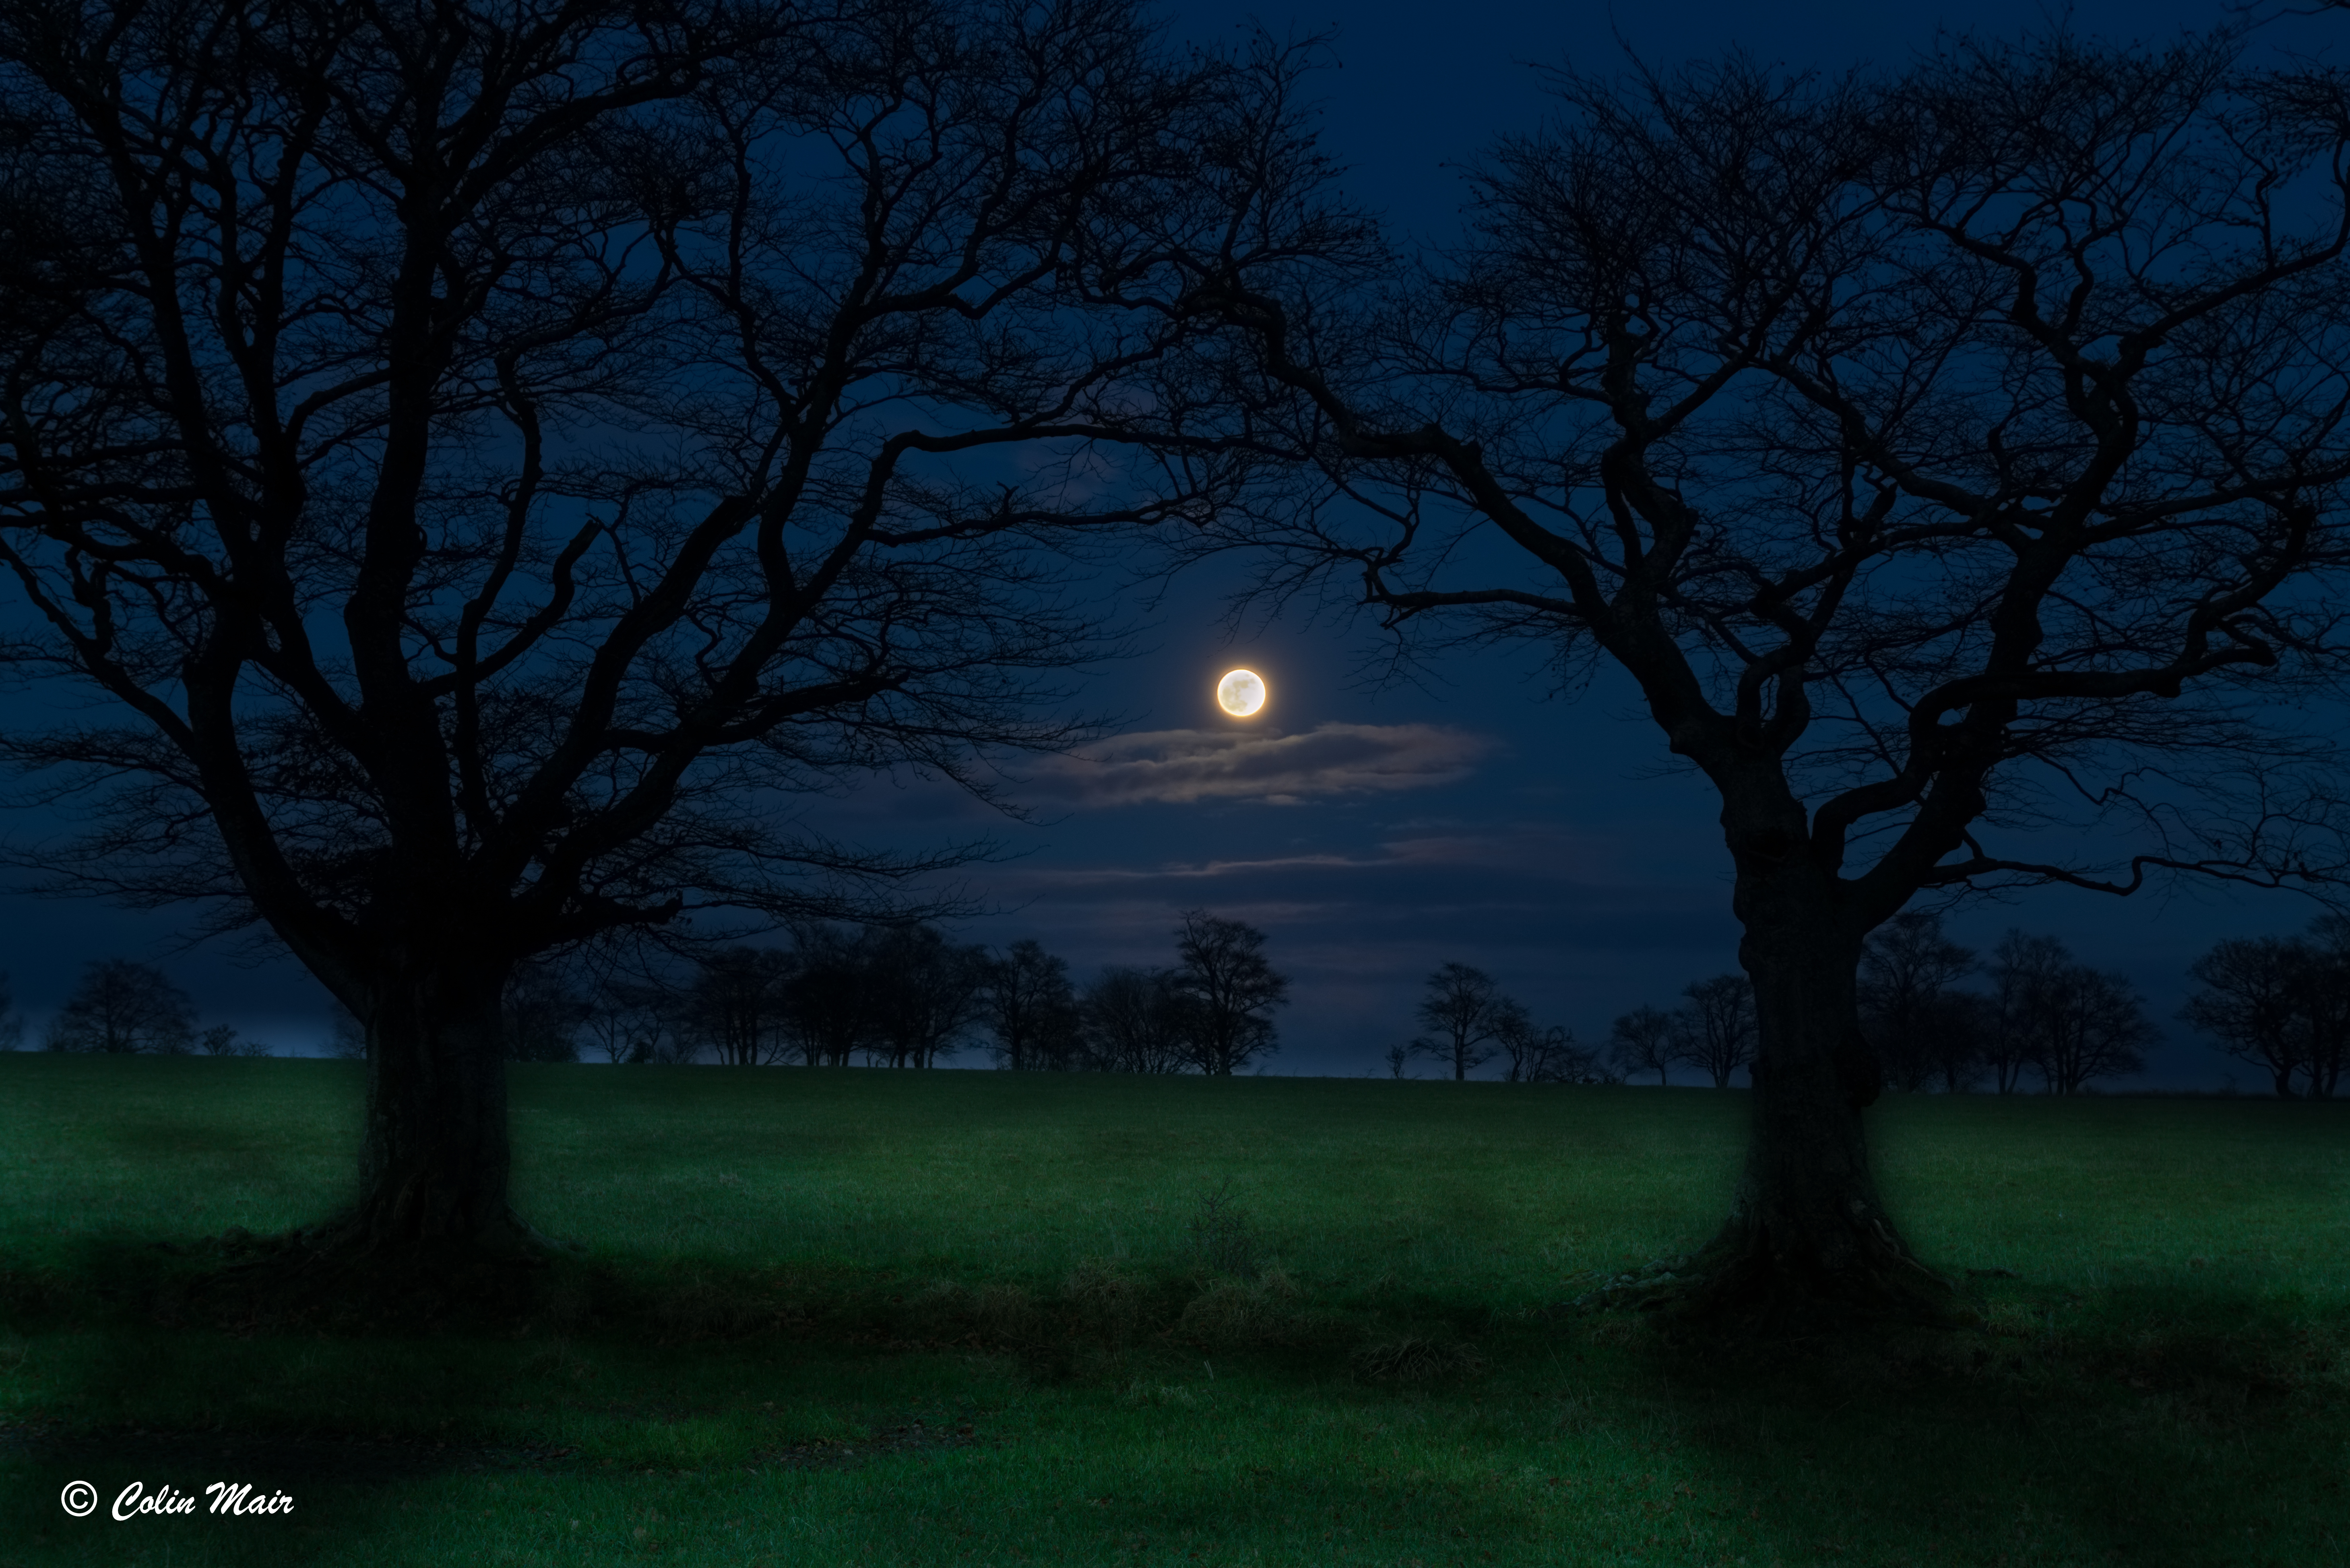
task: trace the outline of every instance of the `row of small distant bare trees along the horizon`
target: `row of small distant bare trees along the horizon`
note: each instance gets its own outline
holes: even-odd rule
[[[2305,936],[2230,938],[2190,969],[2202,983],[2181,1020],[2268,1072],[2280,1098],[2329,1100],[2350,1060],[2350,917]],[[1967,987],[1969,976],[1983,985]],[[1231,1074],[1278,1048],[1274,1009],[1288,978],[1264,933],[1189,910],[1168,966],[1104,966],[1076,985],[1036,940],[1001,952],[959,945],[933,924],[806,922],[780,947],[733,945],[667,973],[588,973],[526,964],[505,987],[505,1056],[524,1063],[721,1063],[935,1067],[987,1051],[1015,1072]],[[2080,1093],[2146,1070],[2162,1032],[2127,976],[2082,964],[2054,936],[2009,931],[1988,964],[1936,914],[1906,912],[1861,957],[1861,1027],[1887,1086],[1965,1093]],[[1509,1084],[1622,1084],[1690,1067],[1727,1088],[1753,1065],[1746,976],[1683,987],[1678,1009],[1638,1006],[1605,1048],[1539,1025],[1483,969],[1448,961],[1426,978],[1419,1034],[1386,1051],[1394,1077],[1431,1060],[1455,1081],[1497,1065]],[[0,973],[0,1048],[24,1041]],[[153,964],[99,959],[47,1020],[49,1051],[268,1056],[233,1025],[200,1027],[186,990]],[[360,1058],[357,1020],[336,1016],[331,1051]]]

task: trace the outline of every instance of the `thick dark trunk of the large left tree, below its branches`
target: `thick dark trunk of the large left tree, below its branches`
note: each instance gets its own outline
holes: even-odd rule
[[[383,980],[367,1011],[360,1199],[329,1251],[512,1255],[533,1232],[505,1201],[503,973]]]

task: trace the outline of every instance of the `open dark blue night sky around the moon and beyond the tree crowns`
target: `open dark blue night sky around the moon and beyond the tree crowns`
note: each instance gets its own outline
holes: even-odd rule
[[[1323,75],[1325,148],[1351,193],[1401,240],[1441,240],[1462,197],[1455,165],[1495,134],[1544,115],[1537,66],[1622,59],[1612,31],[1652,63],[1744,45],[1786,63],[1899,63],[1936,26],[2016,33],[2033,5],[1354,5],[1175,7],[1177,31],[1229,40],[1243,19],[1274,33],[1337,26],[1340,71]],[[2073,9],[2089,35],[2160,40],[2225,16],[2221,5],[2110,0]],[[2289,19],[2270,47],[2350,45],[2350,16]],[[1666,773],[1661,738],[1629,682],[1558,701],[1525,656],[1450,656],[1417,684],[1375,679],[1375,630],[1347,621],[1250,621],[1227,639],[1222,595],[1238,576],[1182,578],[1144,616],[1135,658],[1081,677],[1081,708],[1121,715],[1093,762],[1022,769],[1034,823],[1006,823],[940,788],[877,783],[825,811],[870,842],[924,844],[989,827],[1008,860],[966,872],[999,912],[964,940],[1039,938],[1079,978],[1100,964],[1166,964],[1184,907],[1262,926],[1295,980],[1274,1072],[1384,1072],[1412,1032],[1422,978],[1459,959],[1492,971],[1544,1023],[1591,1041],[1643,1001],[1734,969],[1727,853],[1704,780]],[[1271,703],[1248,724],[1213,701],[1231,665],[1260,670]],[[1365,672],[1370,670],[1370,672]],[[24,715],[35,698],[9,703]],[[38,823],[19,823],[19,830]],[[2186,964],[2211,940],[2298,929],[2315,905],[2287,893],[2202,891],[2115,900],[2042,891],[1981,903],[1950,931],[1988,950],[2007,926],[2052,931],[2099,966],[2129,973],[2167,1044],[2143,1086],[2216,1086],[2230,1070],[2171,1023]],[[280,1051],[324,1037],[324,992],[291,964],[240,969],[219,950],[174,952],[181,919],[89,903],[0,898],[0,969],[33,1020],[96,957],[160,961],[207,1023],[237,1023]],[[985,1060],[968,1053],[966,1063]],[[2247,1079],[2249,1086],[2249,1079]]]

